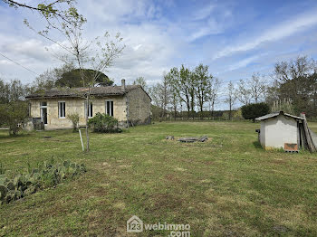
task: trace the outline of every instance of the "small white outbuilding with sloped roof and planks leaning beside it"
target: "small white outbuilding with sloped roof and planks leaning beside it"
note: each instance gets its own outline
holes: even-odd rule
[[[300,147],[304,147],[315,151],[312,131],[307,127],[304,115],[297,117],[279,111],[255,120],[261,121],[261,129],[256,131],[264,149],[283,148],[285,151],[298,152]]]

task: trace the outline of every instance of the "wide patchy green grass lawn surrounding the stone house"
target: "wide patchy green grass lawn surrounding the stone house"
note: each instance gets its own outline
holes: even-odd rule
[[[71,130],[21,137],[0,131],[0,162],[9,175],[52,157],[88,169],[0,206],[0,236],[168,236],[127,234],[132,215],[144,223],[188,223],[191,236],[316,236],[317,155],[264,151],[256,143],[259,127],[167,122],[91,133],[89,154]],[[317,124],[311,128],[317,131]],[[168,135],[211,140],[183,144],[165,140]]]

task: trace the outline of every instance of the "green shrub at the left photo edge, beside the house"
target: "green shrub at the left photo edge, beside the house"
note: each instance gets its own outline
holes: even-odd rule
[[[10,135],[16,135],[22,129],[24,119],[27,117],[28,104],[25,101],[0,104],[0,125],[8,126]]]

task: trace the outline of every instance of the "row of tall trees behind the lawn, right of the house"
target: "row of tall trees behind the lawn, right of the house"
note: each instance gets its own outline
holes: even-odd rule
[[[207,65],[199,64],[193,70],[181,65],[164,73],[162,80],[155,85],[148,86],[142,77],[134,84],[149,92],[153,117],[159,120],[170,116],[174,119],[214,118],[218,103],[226,106],[228,119],[232,119],[235,109],[260,103],[263,111],[280,109],[296,115],[305,112],[308,118],[315,118],[316,69],[317,63],[313,59],[298,56],[289,62],[276,62],[269,75],[255,72],[249,79],[225,83],[214,77]]]

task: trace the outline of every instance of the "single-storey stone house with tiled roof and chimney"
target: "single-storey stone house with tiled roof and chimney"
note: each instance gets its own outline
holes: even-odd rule
[[[119,120],[120,127],[150,123],[150,97],[139,85],[101,86],[91,88],[90,106],[87,111],[84,99],[88,88],[53,89],[28,95],[31,120],[41,121],[44,129],[72,128],[67,115],[77,113],[80,125],[85,124],[85,114],[93,117],[106,113]],[[29,126],[30,127],[30,126]],[[31,126],[32,127],[32,126]]]

